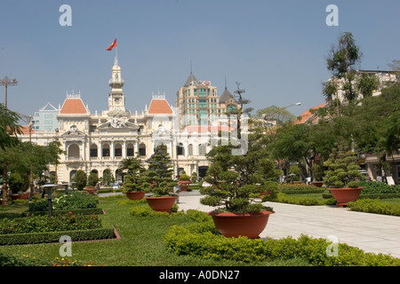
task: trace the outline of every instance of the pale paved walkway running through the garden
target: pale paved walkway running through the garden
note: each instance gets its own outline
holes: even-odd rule
[[[212,207],[200,204],[202,195],[180,193],[179,209],[197,209],[208,212]],[[365,252],[390,254],[400,258],[400,217],[350,211],[335,206],[301,206],[266,202],[274,209],[261,238],[298,238],[307,234],[327,239],[333,236],[341,243],[363,249]],[[330,239],[332,240],[332,239]]]

